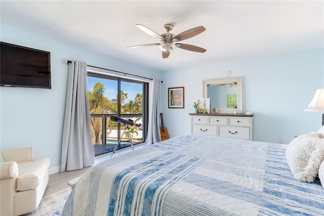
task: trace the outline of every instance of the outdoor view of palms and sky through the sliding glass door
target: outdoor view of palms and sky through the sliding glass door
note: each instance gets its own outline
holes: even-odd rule
[[[147,83],[144,82],[88,73],[95,156],[112,152],[115,148],[130,147],[131,137],[133,145],[145,140],[145,133],[143,133],[143,124],[146,124],[143,121],[146,119],[143,112],[145,88]],[[125,124],[110,120],[112,115],[133,121],[134,126],[129,126],[125,130]],[[135,123],[141,126],[137,127]]]

